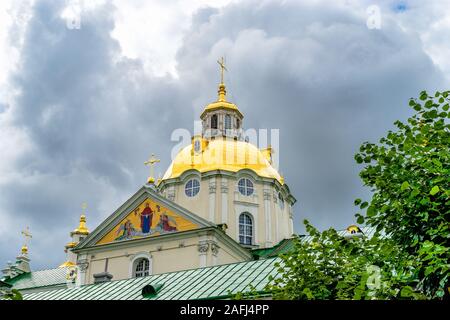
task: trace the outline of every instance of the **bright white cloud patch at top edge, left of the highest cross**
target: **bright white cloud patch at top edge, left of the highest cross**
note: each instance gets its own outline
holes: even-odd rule
[[[177,77],[175,55],[188,30],[191,16],[206,6],[220,8],[231,0],[121,1],[117,7],[112,36],[122,53],[139,58],[148,72]]]

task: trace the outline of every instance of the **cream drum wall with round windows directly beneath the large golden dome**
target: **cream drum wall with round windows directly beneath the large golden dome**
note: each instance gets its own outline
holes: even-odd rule
[[[212,174],[201,180],[200,176],[199,173],[187,175],[168,188],[175,190],[175,201],[179,205],[215,224],[225,223],[228,227],[226,234],[237,242],[239,216],[244,212],[253,219],[254,246],[271,247],[291,237],[290,205],[287,201],[280,205],[275,184],[246,173]],[[200,191],[195,197],[188,197],[185,184],[192,178],[200,181]],[[252,195],[244,196],[239,192],[238,181],[241,178],[249,178],[253,182]],[[167,191],[165,194],[167,196]]]

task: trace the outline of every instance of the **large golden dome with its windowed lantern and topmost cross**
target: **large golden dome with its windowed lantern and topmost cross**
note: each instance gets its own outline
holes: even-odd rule
[[[260,150],[243,138],[243,115],[234,103],[227,101],[224,60],[217,62],[221,68],[218,98],[208,104],[200,116],[202,134],[193,136],[192,143],[178,152],[162,181],[178,178],[191,169],[200,173],[214,170],[236,173],[249,169],[260,177],[277,180],[283,185],[284,178],[273,167],[273,149]]]

